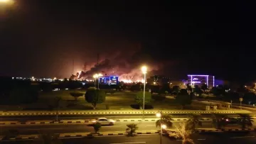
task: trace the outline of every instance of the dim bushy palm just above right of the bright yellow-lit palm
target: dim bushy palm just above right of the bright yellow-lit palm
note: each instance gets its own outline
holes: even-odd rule
[[[188,114],[188,120],[186,121],[186,130],[195,131],[196,125],[202,126],[202,122],[199,121],[199,116],[193,113]]]

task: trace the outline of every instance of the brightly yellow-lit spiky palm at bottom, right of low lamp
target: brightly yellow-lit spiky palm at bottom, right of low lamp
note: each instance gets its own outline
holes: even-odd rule
[[[169,135],[175,138],[181,138],[182,144],[194,144],[193,140],[190,138],[191,134],[192,131],[186,129],[186,123],[180,123],[180,126],[176,127],[176,132],[170,133]]]

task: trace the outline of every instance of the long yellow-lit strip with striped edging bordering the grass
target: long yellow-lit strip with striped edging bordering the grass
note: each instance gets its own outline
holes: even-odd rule
[[[159,110],[145,110],[145,114],[155,114]],[[55,111],[0,111],[0,116],[48,116],[55,115]],[[58,111],[59,115],[98,115],[98,114],[142,114],[142,110],[90,110],[90,111]],[[250,111],[232,110],[162,110],[162,113],[250,113]]]

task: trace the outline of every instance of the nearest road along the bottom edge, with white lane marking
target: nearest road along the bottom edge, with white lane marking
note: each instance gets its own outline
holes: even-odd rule
[[[191,136],[195,143],[200,144],[216,144],[216,143],[246,143],[255,144],[256,133],[207,133],[207,134],[194,134]],[[63,138],[63,144],[159,144],[160,135],[137,135],[133,137],[116,135],[116,136],[101,136],[95,138]],[[3,144],[28,144],[35,143],[35,141],[12,141],[2,142]],[[163,136],[161,144],[181,144],[181,140],[174,140],[169,137]]]

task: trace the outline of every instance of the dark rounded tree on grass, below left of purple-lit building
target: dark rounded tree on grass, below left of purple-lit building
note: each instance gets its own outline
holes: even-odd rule
[[[181,92],[178,92],[176,96],[176,101],[178,102],[178,104],[181,104],[183,109],[185,105],[191,104],[191,96],[189,96],[186,89],[181,89]]]

